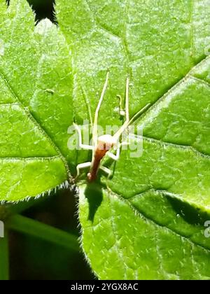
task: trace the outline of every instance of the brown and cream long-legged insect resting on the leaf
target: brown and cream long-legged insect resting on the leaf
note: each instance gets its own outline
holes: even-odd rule
[[[83,150],[91,150],[92,151],[92,161],[91,162],[83,162],[77,165],[76,167],[76,179],[80,175],[81,169],[86,169],[87,167],[90,168],[90,171],[87,174],[87,181],[93,182],[95,179],[97,179],[97,174],[99,169],[102,169],[102,171],[108,175],[108,178],[112,176],[111,169],[108,167],[104,167],[102,165],[102,160],[105,157],[105,155],[109,156],[112,160],[117,161],[120,157],[120,148],[123,145],[129,144],[127,141],[120,142],[120,137],[127,130],[127,127],[130,126],[131,123],[136,120],[141,113],[146,111],[148,109],[148,106],[150,104],[147,104],[144,106],[143,109],[138,111],[131,119],[129,114],[129,78],[126,79],[126,87],[125,87],[125,111],[122,111],[120,106],[120,113],[125,116],[125,122],[123,125],[119,128],[119,130],[113,134],[103,134],[102,136],[98,136],[98,130],[97,130],[97,123],[98,123],[98,117],[99,117],[99,110],[102,105],[102,101],[104,99],[104,95],[106,92],[106,89],[108,87],[109,83],[109,71],[106,73],[106,80],[104,83],[104,87],[102,90],[101,97],[99,99],[99,102],[97,104],[97,109],[94,113],[94,121],[92,125],[92,145],[86,145],[82,142],[82,133],[80,130],[80,127],[76,125],[76,123],[73,123],[76,132],[78,132],[78,145]],[[120,102],[121,105],[121,102]],[[116,151],[116,154],[112,153],[111,150]]]

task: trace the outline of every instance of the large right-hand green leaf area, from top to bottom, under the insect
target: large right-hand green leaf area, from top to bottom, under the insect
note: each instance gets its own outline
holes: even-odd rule
[[[57,0],[56,10],[78,124],[87,104],[94,113],[107,69],[99,125],[120,125],[116,94],[127,76],[130,116],[152,105],[138,121],[143,155],[122,151],[113,179],[79,183],[92,269],[100,279],[210,279],[209,1]],[[78,163],[87,160],[80,151]]]

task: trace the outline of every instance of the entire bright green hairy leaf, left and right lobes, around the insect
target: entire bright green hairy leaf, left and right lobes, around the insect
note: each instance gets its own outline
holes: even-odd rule
[[[0,1],[0,200],[55,188],[88,160],[69,151],[67,130],[87,106],[94,113],[107,69],[100,125],[122,123],[116,94],[128,75],[131,116],[153,104],[138,121],[143,155],[122,151],[113,179],[78,183],[82,245],[99,278],[209,279],[208,3],[57,0],[60,31],[34,27],[25,0]]]

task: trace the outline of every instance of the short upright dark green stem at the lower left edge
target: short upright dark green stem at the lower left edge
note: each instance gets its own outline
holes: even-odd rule
[[[9,279],[9,260],[8,260],[8,234],[4,232],[4,237],[0,237],[0,280]]]

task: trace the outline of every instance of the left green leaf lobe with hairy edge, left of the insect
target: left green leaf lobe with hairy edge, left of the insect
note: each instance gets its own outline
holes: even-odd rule
[[[35,197],[69,179],[71,59],[25,0],[0,2],[0,200]]]

